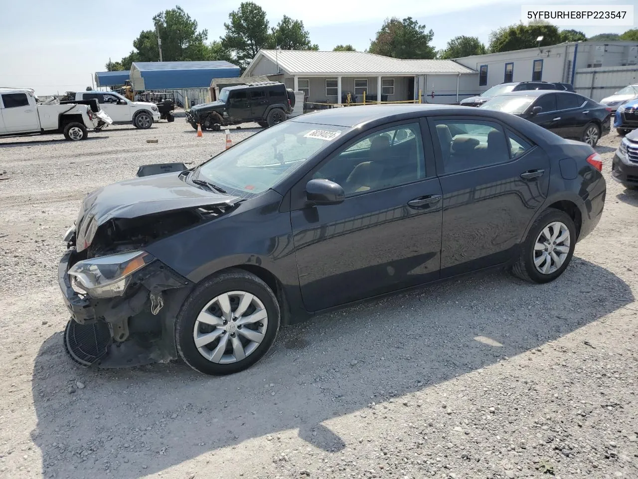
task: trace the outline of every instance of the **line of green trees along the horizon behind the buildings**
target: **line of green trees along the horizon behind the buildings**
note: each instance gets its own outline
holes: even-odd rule
[[[243,2],[228,15],[224,23],[225,35],[208,42],[208,31],[199,30],[197,20],[180,6],[159,12],[152,18],[154,29],[144,30],[133,40],[133,50],[120,61],[109,59],[106,68],[130,70],[135,61],[158,61],[158,34],[161,38],[163,61],[226,60],[239,65],[242,71],[257,52],[262,49],[318,50],[311,43],[310,34],[302,20],[286,15],[276,26],[266,19],[266,12],[258,4]],[[507,52],[562,42],[628,40],[638,42],[638,29],[622,34],[602,33],[587,38],[577,30],[560,30],[547,22],[531,22],[501,27],[489,35],[484,45],[475,36],[460,35],[447,42],[445,49],[436,50],[431,45],[434,31],[427,30],[412,17],[401,20],[386,19],[376,32],[366,52],[402,59],[452,59],[470,55]],[[356,51],[352,45],[337,45],[334,51]]]

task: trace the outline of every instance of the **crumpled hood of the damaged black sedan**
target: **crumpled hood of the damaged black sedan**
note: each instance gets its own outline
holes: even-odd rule
[[[98,227],[112,218],[137,218],[198,206],[230,206],[237,201],[237,197],[188,185],[180,175],[166,173],[126,179],[89,193],[76,222],[77,251],[87,248]]]

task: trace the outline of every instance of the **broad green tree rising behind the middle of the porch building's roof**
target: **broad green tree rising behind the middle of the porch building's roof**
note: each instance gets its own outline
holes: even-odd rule
[[[383,22],[370,43],[369,52],[393,58],[431,59],[436,56],[436,50],[430,45],[433,38],[434,32],[426,32],[426,26],[419,25],[412,17],[403,20],[392,17]]]

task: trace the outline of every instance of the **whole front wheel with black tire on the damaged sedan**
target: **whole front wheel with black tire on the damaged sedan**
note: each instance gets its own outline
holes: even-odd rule
[[[184,301],[175,321],[177,351],[198,372],[234,374],[267,353],[280,317],[277,298],[265,282],[229,270],[202,282]]]

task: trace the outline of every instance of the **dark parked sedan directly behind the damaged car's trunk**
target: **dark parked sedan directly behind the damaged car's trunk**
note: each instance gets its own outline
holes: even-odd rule
[[[577,93],[536,90],[503,93],[481,105],[521,116],[563,138],[596,146],[609,133],[611,109]]]

